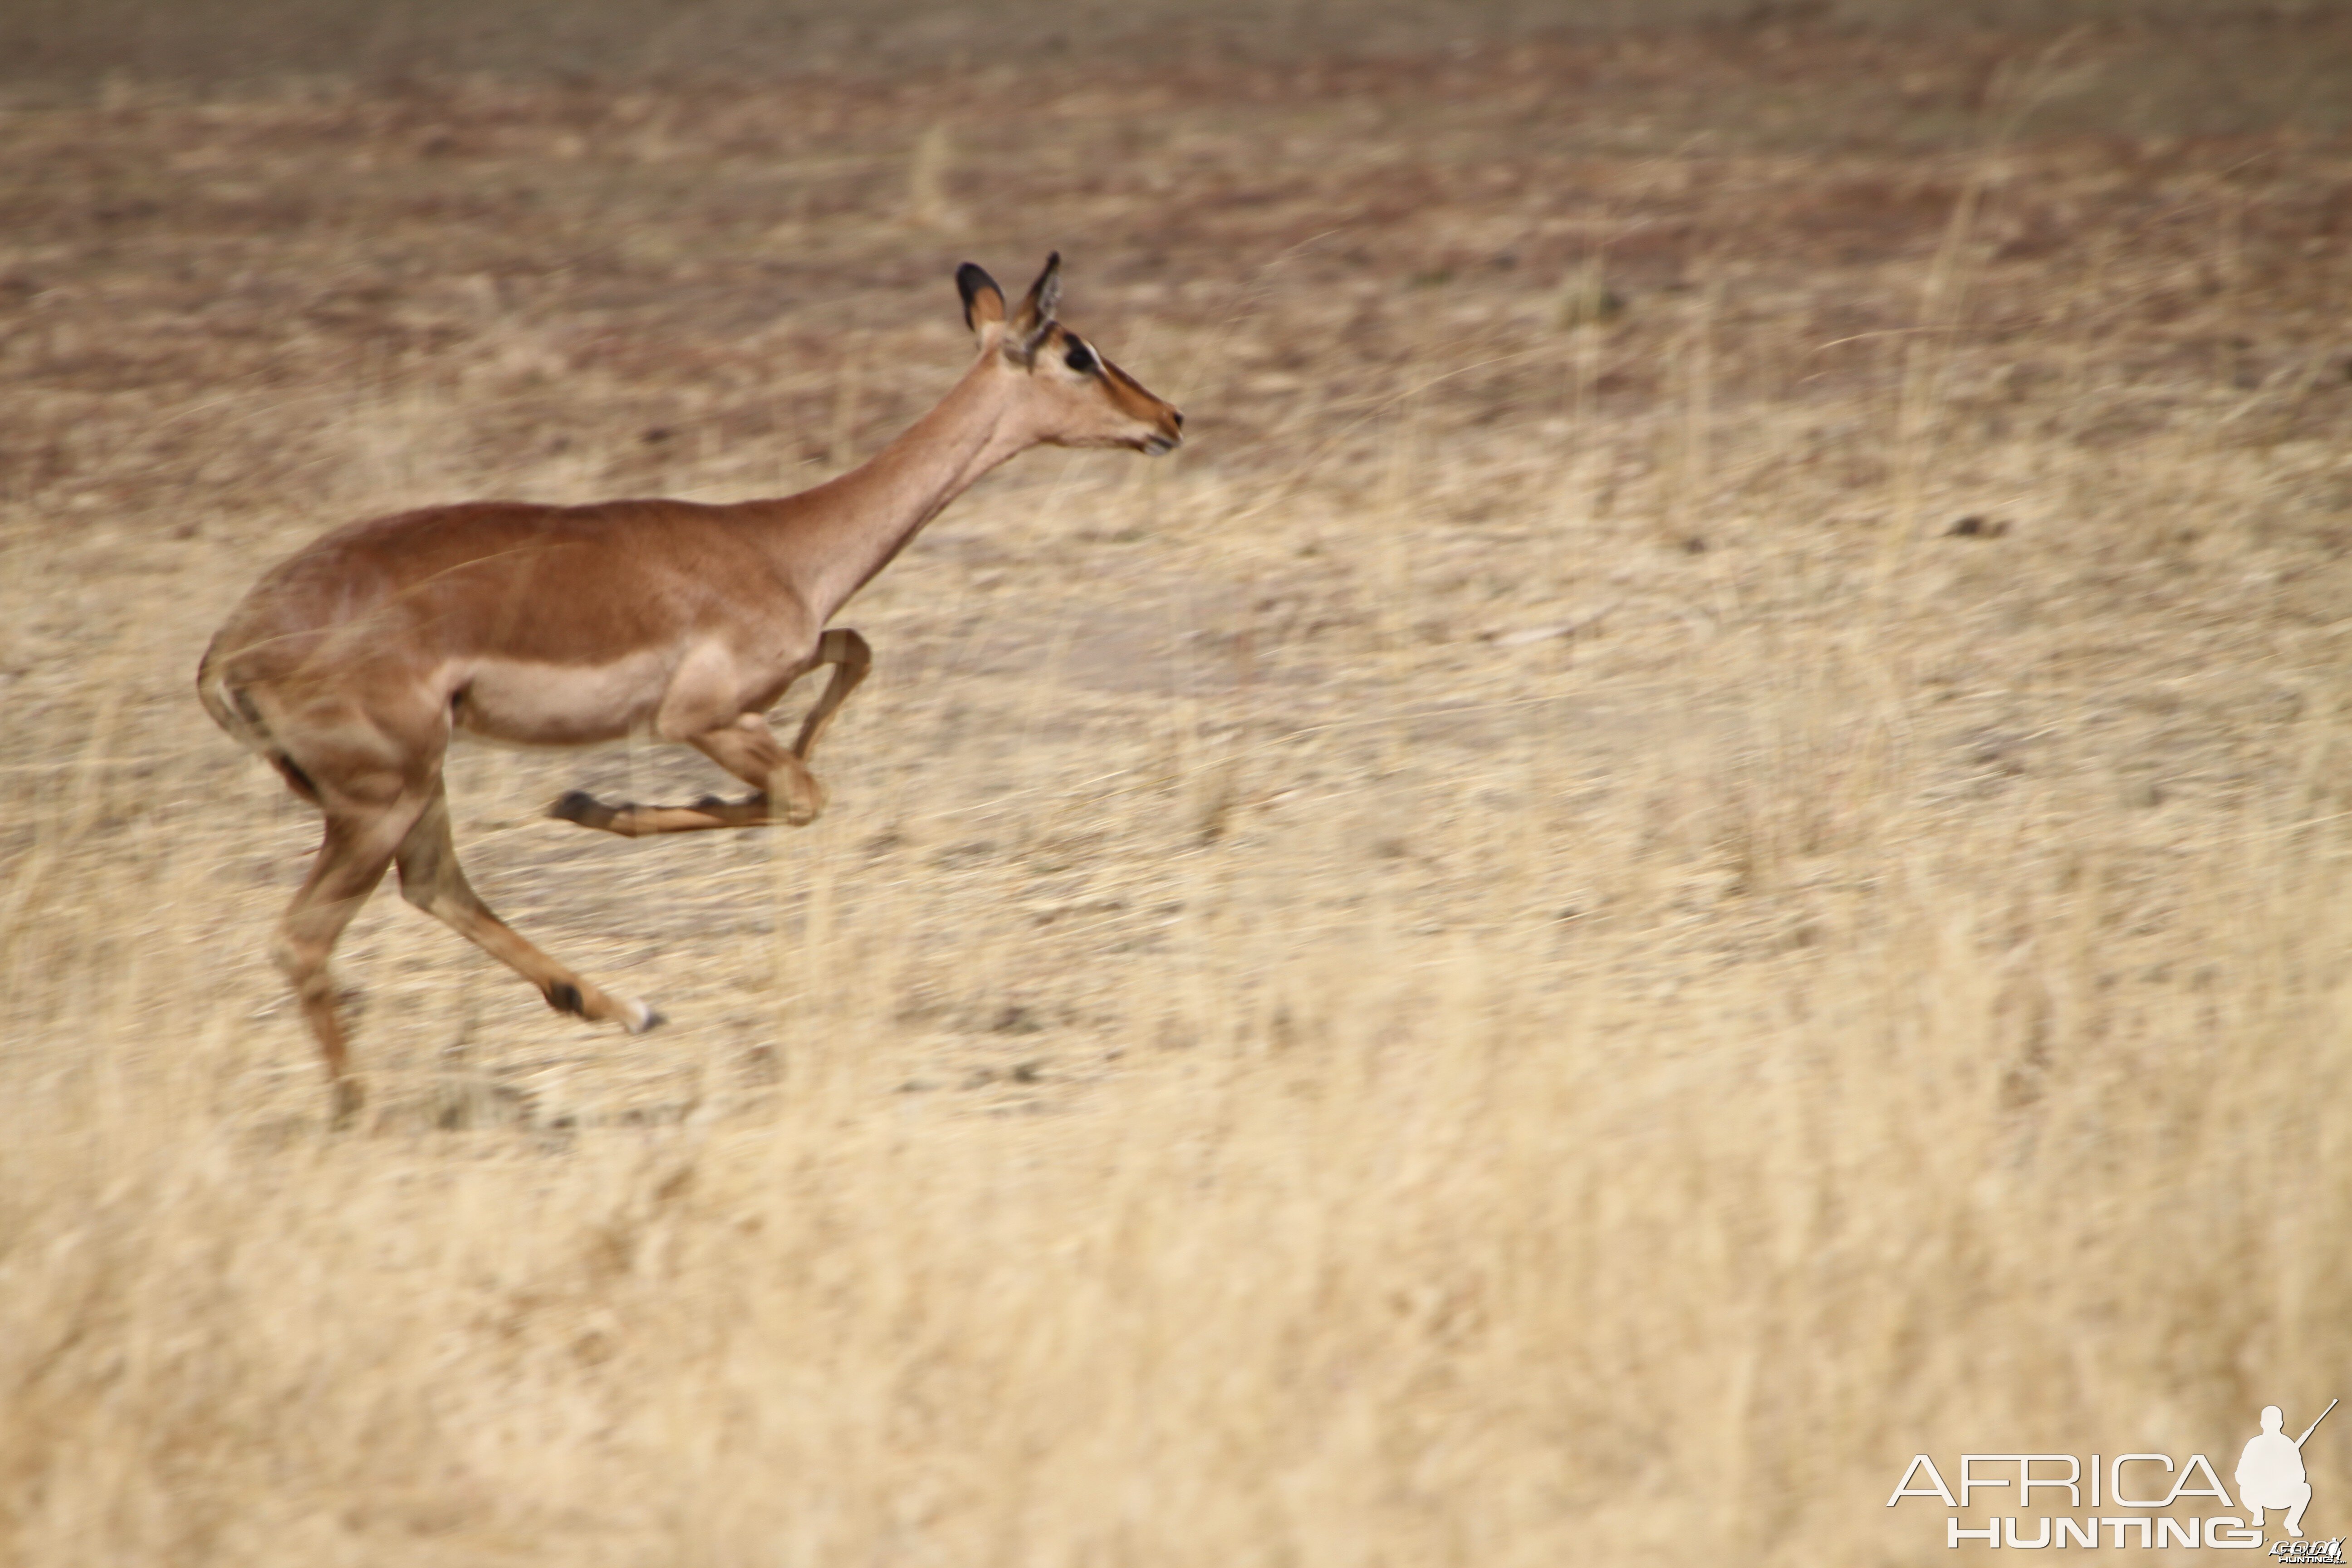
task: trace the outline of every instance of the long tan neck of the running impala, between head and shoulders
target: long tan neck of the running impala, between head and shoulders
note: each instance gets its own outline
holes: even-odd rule
[[[1018,383],[997,362],[981,362],[889,447],[837,480],[783,503],[795,550],[795,576],[823,625],[922,524],[938,517],[990,468],[1035,444],[1016,411]],[[809,543],[821,548],[809,552]]]

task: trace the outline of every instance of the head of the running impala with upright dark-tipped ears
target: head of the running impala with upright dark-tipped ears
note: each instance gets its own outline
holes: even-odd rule
[[[964,296],[964,322],[981,339],[981,355],[1023,378],[1023,402],[1042,444],[1134,447],[1160,456],[1183,440],[1183,414],[1054,320],[1061,252],[1047,256],[1016,310],[1004,308],[997,280],[969,261],[955,268],[955,287]]]

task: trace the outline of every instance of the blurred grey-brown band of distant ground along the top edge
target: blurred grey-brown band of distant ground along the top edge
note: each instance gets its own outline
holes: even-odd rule
[[[1284,63],[1397,59],[1543,40],[1668,31],[1806,28],[1844,35],[2013,40],[2089,31],[2129,99],[2053,103],[2049,127],[2223,134],[2343,127],[2343,71],[2296,49],[2328,0],[16,0],[0,12],[0,87],[73,101],[113,78],[153,89],[252,92],[296,80],[506,82],[802,75],[1051,66]],[[2199,38],[2270,40],[2206,47]],[[2284,45],[2284,47],[2281,47]],[[2251,66],[2251,68],[2249,68]],[[1719,120],[1736,122],[1736,115]]]

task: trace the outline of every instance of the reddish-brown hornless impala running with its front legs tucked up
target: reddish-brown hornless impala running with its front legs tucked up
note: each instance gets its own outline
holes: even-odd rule
[[[866,639],[828,623],[981,475],[1030,447],[1176,447],[1183,414],[1054,320],[1061,256],[1018,310],[955,273],[978,360],[873,461],[781,501],[696,505],[468,501],[341,527],[270,569],[205,651],[214,722],[320,809],[325,839],[273,957],[318,1037],[339,1121],[360,1105],[327,957],[393,865],[419,910],[539,987],[630,1032],[661,1023],[555,961],[466,884],[442,757],[459,733],[590,745],[684,741],[753,788],[691,806],[579,790],[548,816],[623,837],[804,825],[826,804],[809,752],[866,679]],[[793,745],[767,710],[833,668]]]

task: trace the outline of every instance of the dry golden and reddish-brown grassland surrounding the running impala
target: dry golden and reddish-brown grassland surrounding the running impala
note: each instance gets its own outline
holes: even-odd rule
[[[1783,9],[49,35],[0,1559],[1896,1563],[1917,1450],[2227,1476],[2352,1394],[2352,24]],[[329,1133],[315,818],[191,691],[245,585],[797,489],[1049,247],[1188,447],[1021,458],[851,607],[816,827],[583,835],[713,776],[461,750],[475,884],[673,1023],[386,889]]]

